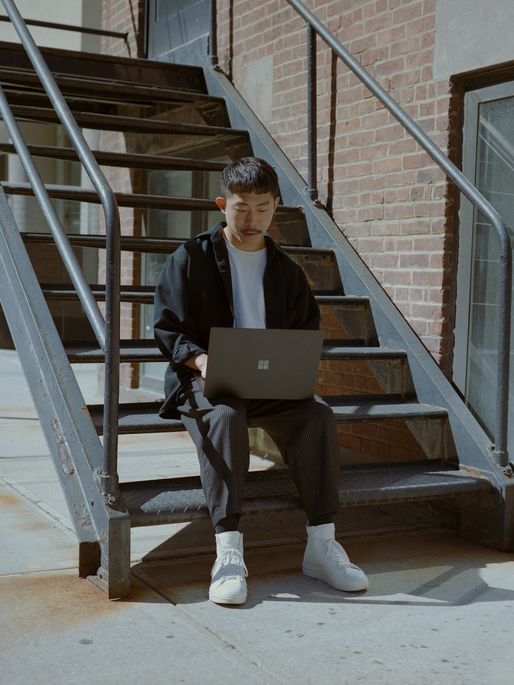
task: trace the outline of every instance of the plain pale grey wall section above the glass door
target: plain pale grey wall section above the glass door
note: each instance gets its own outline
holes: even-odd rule
[[[514,0],[437,0],[434,80],[514,60]]]

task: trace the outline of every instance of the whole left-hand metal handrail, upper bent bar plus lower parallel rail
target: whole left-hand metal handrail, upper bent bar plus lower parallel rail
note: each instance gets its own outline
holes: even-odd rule
[[[45,218],[49,221],[50,230],[56,239],[56,245],[62,255],[66,269],[71,280],[77,288],[82,305],[86,310],[95,334],[105,354],[106,383],[103,405],[103,457],[101,469],[99,469],[99,486],[103,497],[109,506],[117,506],[119,502],[119,482],[117,475],[117,451],[118,451],[118,406],[119,406],[119,326],[120,326],[120,273],[121,273],[121,229],[117,201],[114,192],[103,175],[93,153],[91,152],[82,131],[79,129],[71,110],[69,109],[62,93],[60,92],[51,72],[40,53],[34,39],[29,33],[21,14],[13,0],[1,0],[16,33],[18,34],[25,51],[32,62],[38,77],[45,88],[47,95],[56,110],[58,117],[68,134],[75,151],[88,174],[93,187],[97,191],[106,220],[106,317],[103,321],[99,310],[91,303],[90,288],[86,283],[82,269],[77,260],[72,258],[73,250],[66,237],[64,229],[57,219],[55,210],[50,210],[47,203],[46,190],[43,191],[41,179],[36,171],[34,162],[30,158],[25,142],[21,142],[21,133],[14,122],[10,108],[3,101],[6,123],[14,132],[12,142],[20,155],[25,173],[34,188],[34,194],[40,203]],[[5,95],[3,95],[5,99]],[[4,114],[4,111],[2,111]],[[17,132],[16,132],[17,129]],[[11,134],[11,131],[10,131]],[[12,137],[12,134],[11,134]],[[21,140],[20,140],[21,138]],[[34,173],[36,171],[36,173]],[[49,203],[51,205],[51,202]],[[55,215],[55,216],[54,216]],[[94,298],[93,298],[94,299]]]

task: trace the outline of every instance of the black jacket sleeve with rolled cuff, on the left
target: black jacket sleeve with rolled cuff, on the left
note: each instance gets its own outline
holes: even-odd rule
[[[191,357],[205,352],[196,340],[188,298],[189,256],[180,247],[164,264],[154,299],[154,338],[176,371]]]

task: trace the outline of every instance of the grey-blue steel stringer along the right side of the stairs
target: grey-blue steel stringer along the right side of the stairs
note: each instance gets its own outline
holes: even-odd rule
[[[208,62],[204,62],[204,74],[208,92],[225,98],[231,124],[238,129],[248,130],[254,154],[269,160],[276,167],[282,194],[281,201],[288,206],[297,205],[303,208],[311,244],[315,247],[334,249],[345,293],[369,297],[380,345],[406,351],[417,399],[448,410],[455,456],[461,469],[478,472],[491,479],[497,501],[505,501],[507,497],[512,497],[514,480],[511,477],[511,470],[502,470],[493,462],[491,440],[387,292],[326,211],[306,197],[304,179],[297,173],[243,97],[230,84],[228,78]],[[351,335],[351,332],[349,334]],[[384,389],[387,391],[387,388]],[[411,422],[410,427],[415,434],[415,423]],[[514,539],[514,521],[509,525],[512,528],[509,537]]]

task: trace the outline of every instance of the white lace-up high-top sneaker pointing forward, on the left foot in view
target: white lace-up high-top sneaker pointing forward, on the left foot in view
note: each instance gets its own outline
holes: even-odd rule
[[[244,604],[248,570],[243,560],[243,534],[216,534],[217,559],[212,566],[209,599],[217,604]]]

